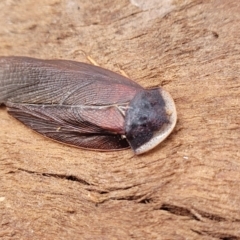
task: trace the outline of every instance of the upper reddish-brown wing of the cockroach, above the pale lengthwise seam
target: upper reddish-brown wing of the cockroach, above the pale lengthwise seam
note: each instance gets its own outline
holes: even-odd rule
[[[66,60],[0,58],[0,103],[106,106],[129,102],[142,89],[109,70]]]

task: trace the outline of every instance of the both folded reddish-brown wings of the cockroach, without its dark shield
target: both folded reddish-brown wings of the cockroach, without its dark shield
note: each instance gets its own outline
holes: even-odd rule
[[[83,148],[128,147],[124,117],[142,87],[85,63],[0,58],[0,104],[35,131]]]

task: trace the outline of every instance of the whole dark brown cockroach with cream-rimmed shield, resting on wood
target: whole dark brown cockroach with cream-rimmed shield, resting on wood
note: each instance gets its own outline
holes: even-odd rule
[[[81,148],[132,147],[142,154],[173,130],[177,114],[162,88],[86,63],[0,57],[0,104],[33,130]]]

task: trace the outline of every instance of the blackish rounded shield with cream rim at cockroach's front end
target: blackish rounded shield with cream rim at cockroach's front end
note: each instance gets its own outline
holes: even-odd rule
[[[140,91],[129,104],[125,135],[136,154],[161,143],[173,130],[177,113],[172,97],[163,89]]]

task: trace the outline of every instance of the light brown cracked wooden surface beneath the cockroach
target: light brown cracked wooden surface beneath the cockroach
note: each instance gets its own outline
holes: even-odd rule
[[[142,156],[48,140],[0,108],[1,239],[240,239],[239,0],[0,1],[0,55],[124,70],[176,101]]]

